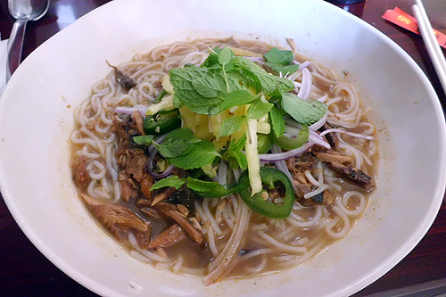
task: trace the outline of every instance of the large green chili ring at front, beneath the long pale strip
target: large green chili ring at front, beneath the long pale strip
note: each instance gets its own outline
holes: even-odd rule
[[[261,193],[252,196],[249,188],[240,191],[240,197],[252,210],[259,212],[265,217],[270,219],[287,218],[290,215],[291,210],[293,210],[295,200],[294,189],[290,179],[284,172],[271,167],[261,167],[260,177],[262,183],[268,185],[270,188],[274,188],[276,182],[280,182],[285,186],[284,203],[279,205],[265,201],[261,197]],[[244,173],[242,173],[238,179],[239,185],[244,185],[246,182],[249,182],[248,170],[244,170]]]

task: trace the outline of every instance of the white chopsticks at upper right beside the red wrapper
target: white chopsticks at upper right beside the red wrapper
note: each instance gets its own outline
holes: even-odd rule
[[[431,57],[435,71],[440,79],[440,83],[442,84],[444,92],[446,92],[446,60],[444,59],[442,49],[437,42],[437,38],[434,35],[434,29],[425,13],[425,6],[421,0],[415,0],[415,4],[412,5],[412,11],[417,19],[418,29],[425,42],[427,53]]]

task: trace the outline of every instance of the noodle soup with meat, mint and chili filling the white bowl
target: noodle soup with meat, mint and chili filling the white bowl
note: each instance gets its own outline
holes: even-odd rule
[[[76,108],[77,126],[70,140],[78,194],[131,256],[158,269],[202,276],[204,285],[211,285],[225,277],[258,276],[304,263],[354,226],[376,186],[378,146],[370,110],[360,103],[348,73],[326,69],[296,53],[293,40],[289,43],[293,52],[236,37],[162,45],[132,61],[111,65],[110,74],[96,82],[91,95]],[[229,53],[225,48],[233,54],[229,58],[222,54]],[[277,66],[272,53],[282,59],[290,52],[293,62],[280,67],[291,68]],[[212,54],[219,63],[212,64]],[[249,91],[252,101],[219,112],[211,111],[214,105],[210,105],[207,114],[194,111],[202,104],[187,105],[187,98],[178,103],[185,91],[174,77],[183,72],[175,70],[204,69],[215,77],[212,71],[217,67],[223,75],[216,81],[226,81],[228,90],[231,86]],[[244,76],[238,80],[244,89],[227,82],[232,79],[228,73],[237,67],[241,70],[234,78]],[[279,91],[290,84],[293,89],[280,95],[277,90],[253,90],[249,83],[244,86],[255,80],[252,75],[277,82]],[[213,93],[202,91],[202,85],[216,84],[197,77],[187,86],[198,89],[200,98],[211,98]],[[298,122],[293,111],[286,111],[285,96],[318,105],[325,109],[324,115]],[[255,104],[269,110],[255,117],[249,109]],[[284,121],[281,136],[274,134],[278,126],[273,108]],[[229,118],[237,121],[238,129],[225,127]],[[232,133],[224,133],[225,128]],[[174,131],[180,131],[177,138]],[[295,144],[301,137],[305,141]],[[171,143],[176,145],[168,146]],[[227,153],[237,144],[241,150]],[[255,152],[250,153],[253,144]],[[181,145],[183,154],[177,152]],[[190,169],[178,161],[191,151],[189,147],[199,150],[204,145],[214,147],[213,152],[202,153],[202,159],[211,158],[209,164],[195,160],[200,156],[194,159],[200,166]],[[177,154],[172,157],[173,151]],[[263,185],[254,193],[256,164],[274,170],[257,169],[259,177],[270,174],[277,179],[274,186]],[[244,180],[249,185],[244,186]],[[197,190],[199,186],[215,190]],[[224,194],[212,196],[218,191]],[[253,201],[255,194],[263,202]],[[291,204],[286,198],[290,195]],[[290,208],[282,215],[287,203]]]

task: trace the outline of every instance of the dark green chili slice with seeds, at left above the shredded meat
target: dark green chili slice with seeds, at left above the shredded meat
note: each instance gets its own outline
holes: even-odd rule
[[[164,134],[181,126],[178,109],[158,111],[144,120],[145,134]]]

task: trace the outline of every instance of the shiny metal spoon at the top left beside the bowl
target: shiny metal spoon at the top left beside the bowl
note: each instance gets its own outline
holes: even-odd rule
[[[8,62],[6,63],[6,79],[11,78],[12,73],[21,63],[21,48],[28,21],[37,21],[48,10],[49,0],[8,0],[9,12],[17,21],[12,26],[11,36],[8,41]]]

